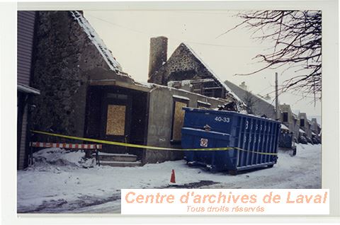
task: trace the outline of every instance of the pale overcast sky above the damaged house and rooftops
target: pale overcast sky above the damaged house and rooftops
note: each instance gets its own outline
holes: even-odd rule
[[[267,69],[261,74],[246,74],[264,64],[253,59],[268,51],[272,42],[258,42],[246,29],[232,30],[239,23],[235,11],[84,11],[84,16],[112,51],[113,56],[137,81],[147,81],[150,37],[166,36],[168,58],[181,42],[186,42],[222,80],[239,85],[246,82],[252,93],[273,96],[275,72],[279,84],[294,76],[294,71],[281,75],[283,69]],[[280,103],[290,104],[295,112],[321,115],[321,103],[314,107],[313,98],[301,100],[299,93],[284,93]],[[312,103],[311,103],[312,102]],[[319,118],[318,118],[319,122]]]

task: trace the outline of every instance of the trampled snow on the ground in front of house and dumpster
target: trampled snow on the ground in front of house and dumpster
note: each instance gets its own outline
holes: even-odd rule
[[[142,167],[96,166],[82,158],[84,152],[61,149],[43,149],[34,157],[35,164],[17,174],[19,213],[119,213],[120,189],[169,188],[172,169],[178,185],[212,183],[193,188],[321,188],[321,145],[297,144],[296,156],[280,151],[273,168],[239,175],[210,173],[183,160]]]

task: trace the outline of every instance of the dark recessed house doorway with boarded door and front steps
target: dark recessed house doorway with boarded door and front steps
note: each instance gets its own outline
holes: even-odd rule
[[[86,103],[86,137],[147,144],[148,93],[119,86],[90,86]],[[143,149],[103,144],[103,151],[135,154]]]

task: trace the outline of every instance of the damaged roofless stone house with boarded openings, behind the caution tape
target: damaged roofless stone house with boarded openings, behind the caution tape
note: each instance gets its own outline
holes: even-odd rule
[[[167,61],[166,53],[165,57],[162,53],[166,49],[158,51],[158,47],[151,45],[152,83],[139,83],[123,71],[81,11],[37,11],[30,84],[40,90],[40,95],[32,100],[35,110],[30,114],[30,129],[181,148],[183,107],[217,108],[225,103],[242,103],[189,47],[181,45]],[[171,63],[175,59],[181,61],[180,52],[185,53],[182,56],[187,57],[187,63]],[[43,134],[31,133],[28,137],[28,142],[81,143]],[[28,149],[20,151],[25,153]],[[181,151],[110,144],[103,144],[102,151],[115,154],[103,162],[110,166],[183,158]]]

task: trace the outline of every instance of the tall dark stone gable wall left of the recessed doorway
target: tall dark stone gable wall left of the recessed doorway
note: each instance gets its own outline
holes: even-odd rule
[[[108,64],[70,11],[38,12],[34,51],[32,128],[83,135],[89,71]]]

